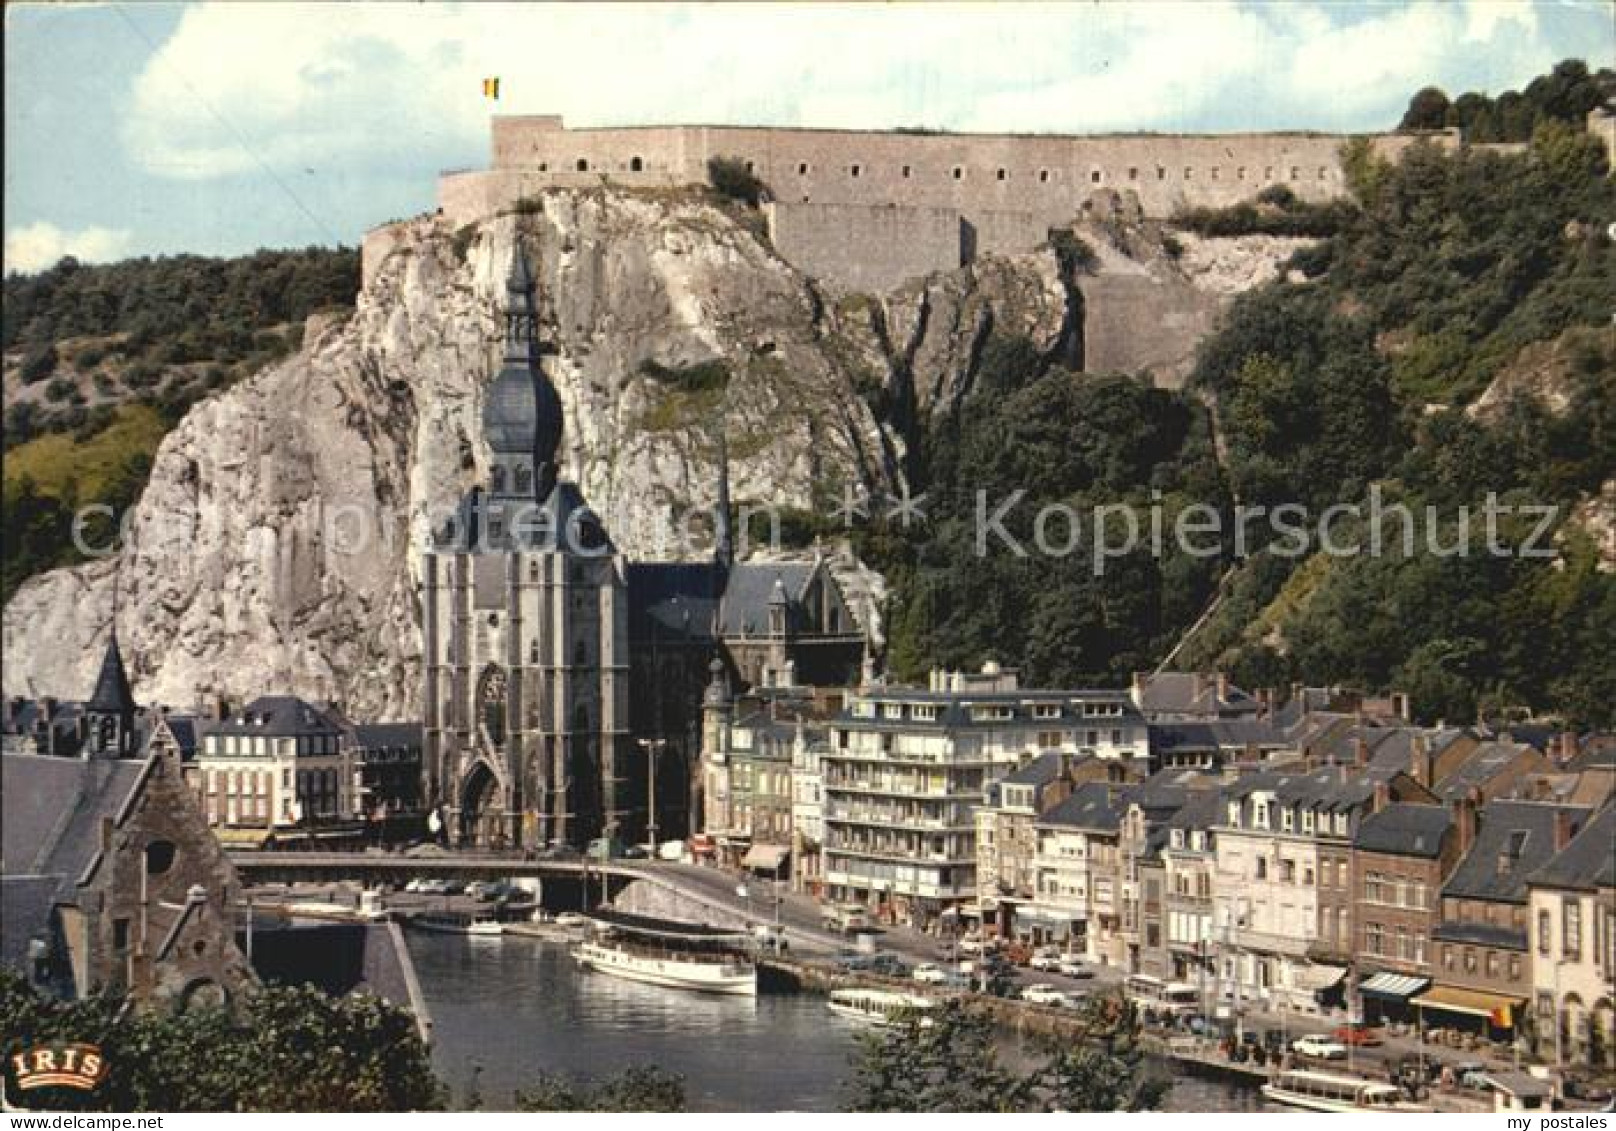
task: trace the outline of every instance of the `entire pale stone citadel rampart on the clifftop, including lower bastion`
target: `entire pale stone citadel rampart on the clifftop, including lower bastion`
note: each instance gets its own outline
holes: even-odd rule
[[[1432,136],[1458,144],[1456,131]],[[823,281],[882,291],[915,275],[1023,252],[1078,218],[1097,189],[1130,192],[1146,217],[1230,205],[1270,184],[1302,200],[1346,192],[1341,134],[952,134],[625,126],[567,129],[554,115],[496,116],[493,166],[438,181],[464,225],[546,187],[677,187],[734,157],[774,200],[769,229],[789,262]],[[1372,134],[1395,157],[1416,137]],[[378,244],[380,250],[380,244]],[[368,260],[368,254],[367,254]]]

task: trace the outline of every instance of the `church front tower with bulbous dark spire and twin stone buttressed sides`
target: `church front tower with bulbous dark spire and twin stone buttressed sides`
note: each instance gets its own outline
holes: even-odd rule
[[[559,475],[561,397],[520,249],[503,320],[483,397],[486,490],[422,556],[427,788],[452,843],[585,843],[621,819],[624,562]]]

